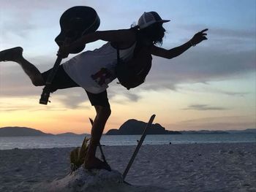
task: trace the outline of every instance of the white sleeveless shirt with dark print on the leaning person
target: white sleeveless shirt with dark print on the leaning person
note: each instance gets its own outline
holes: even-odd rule
[[[119,50],[120,58],[128,61],[133,56],[135,45]],[[63,64],[65,72],[78,85],[90,93],[101,93],[108,83],[116,79],[117,52],[110,42],[99,49],[85,51]]]

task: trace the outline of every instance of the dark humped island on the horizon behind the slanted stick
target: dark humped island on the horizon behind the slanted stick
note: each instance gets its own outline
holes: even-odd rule
[[[145,122],[135,119],[127,120],[118,129],[110,129],[107,135],[135,135],[143,134],[143,130],[146,127]],[[178,131],[167,131],[159,123],[152,124],[151,128],[148,129],[148,134],[181,134]]]

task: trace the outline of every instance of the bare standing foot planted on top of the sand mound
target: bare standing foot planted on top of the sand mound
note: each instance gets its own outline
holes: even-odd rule
[[[91,158],[91,159],[86,159],[84,161],[83,167],[85,169],[106,169],[109,172],[111,171],[110,166],[107,164],[107,162],[100,161],[99,158]]]

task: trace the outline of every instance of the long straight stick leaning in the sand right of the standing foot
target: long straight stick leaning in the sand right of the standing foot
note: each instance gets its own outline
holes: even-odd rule
[[[135,152],[132,154],[132,158],[129,160],[129,164],[127,165],[127,168],[124,170],[123,179],[125,179],[125,177],[127,176],[127,173],[128,173],[128,171],[129,171],[129,168],[132,166],[132,163],[133,163],[133,161],[135,160],[135,157],[136,157],[138,151],[140,150],[140,147],[141,147],[141,145],[142,145],[142,143],[143,143],[143,141],[144,141],[144,139],[145,139],[145,137],[146,137],[147,130],[148,130],[148,128],[151,127],[151,125],[152,125],[153,120],[154,120],[155,117],[156,117],[156,115],[152,115],[151,118],[150,118],[149,121],[148,121],[148,124],[147,124],[146,127],[144,128],[143,134],[142,134],[141,137],[140,137],[140,141],[138,142],[138,145],[137,145],[137,147],[136,147],[136,149],[135,149]]]

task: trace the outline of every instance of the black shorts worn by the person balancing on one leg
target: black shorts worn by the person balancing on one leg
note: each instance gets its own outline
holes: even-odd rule
[[[42,73],[42,78],[47,80],[48,75],[50,74],[52,69],[49,69],[46,72]],[[56,72],[55,77],[53,78],[53,82],[51,84],[51,93],[57,91],[58,89],[64,88],[75,88],[80,87],[76,82],[74,82],[69,75],[64,71],[63,66],[59,66],[58,71]],[[102,93],[90,93],[86,91],[87,96],[93,106],[102,106],[102,107],[110,107],[108,102],[108,93],[107,91],[103,91]]]

